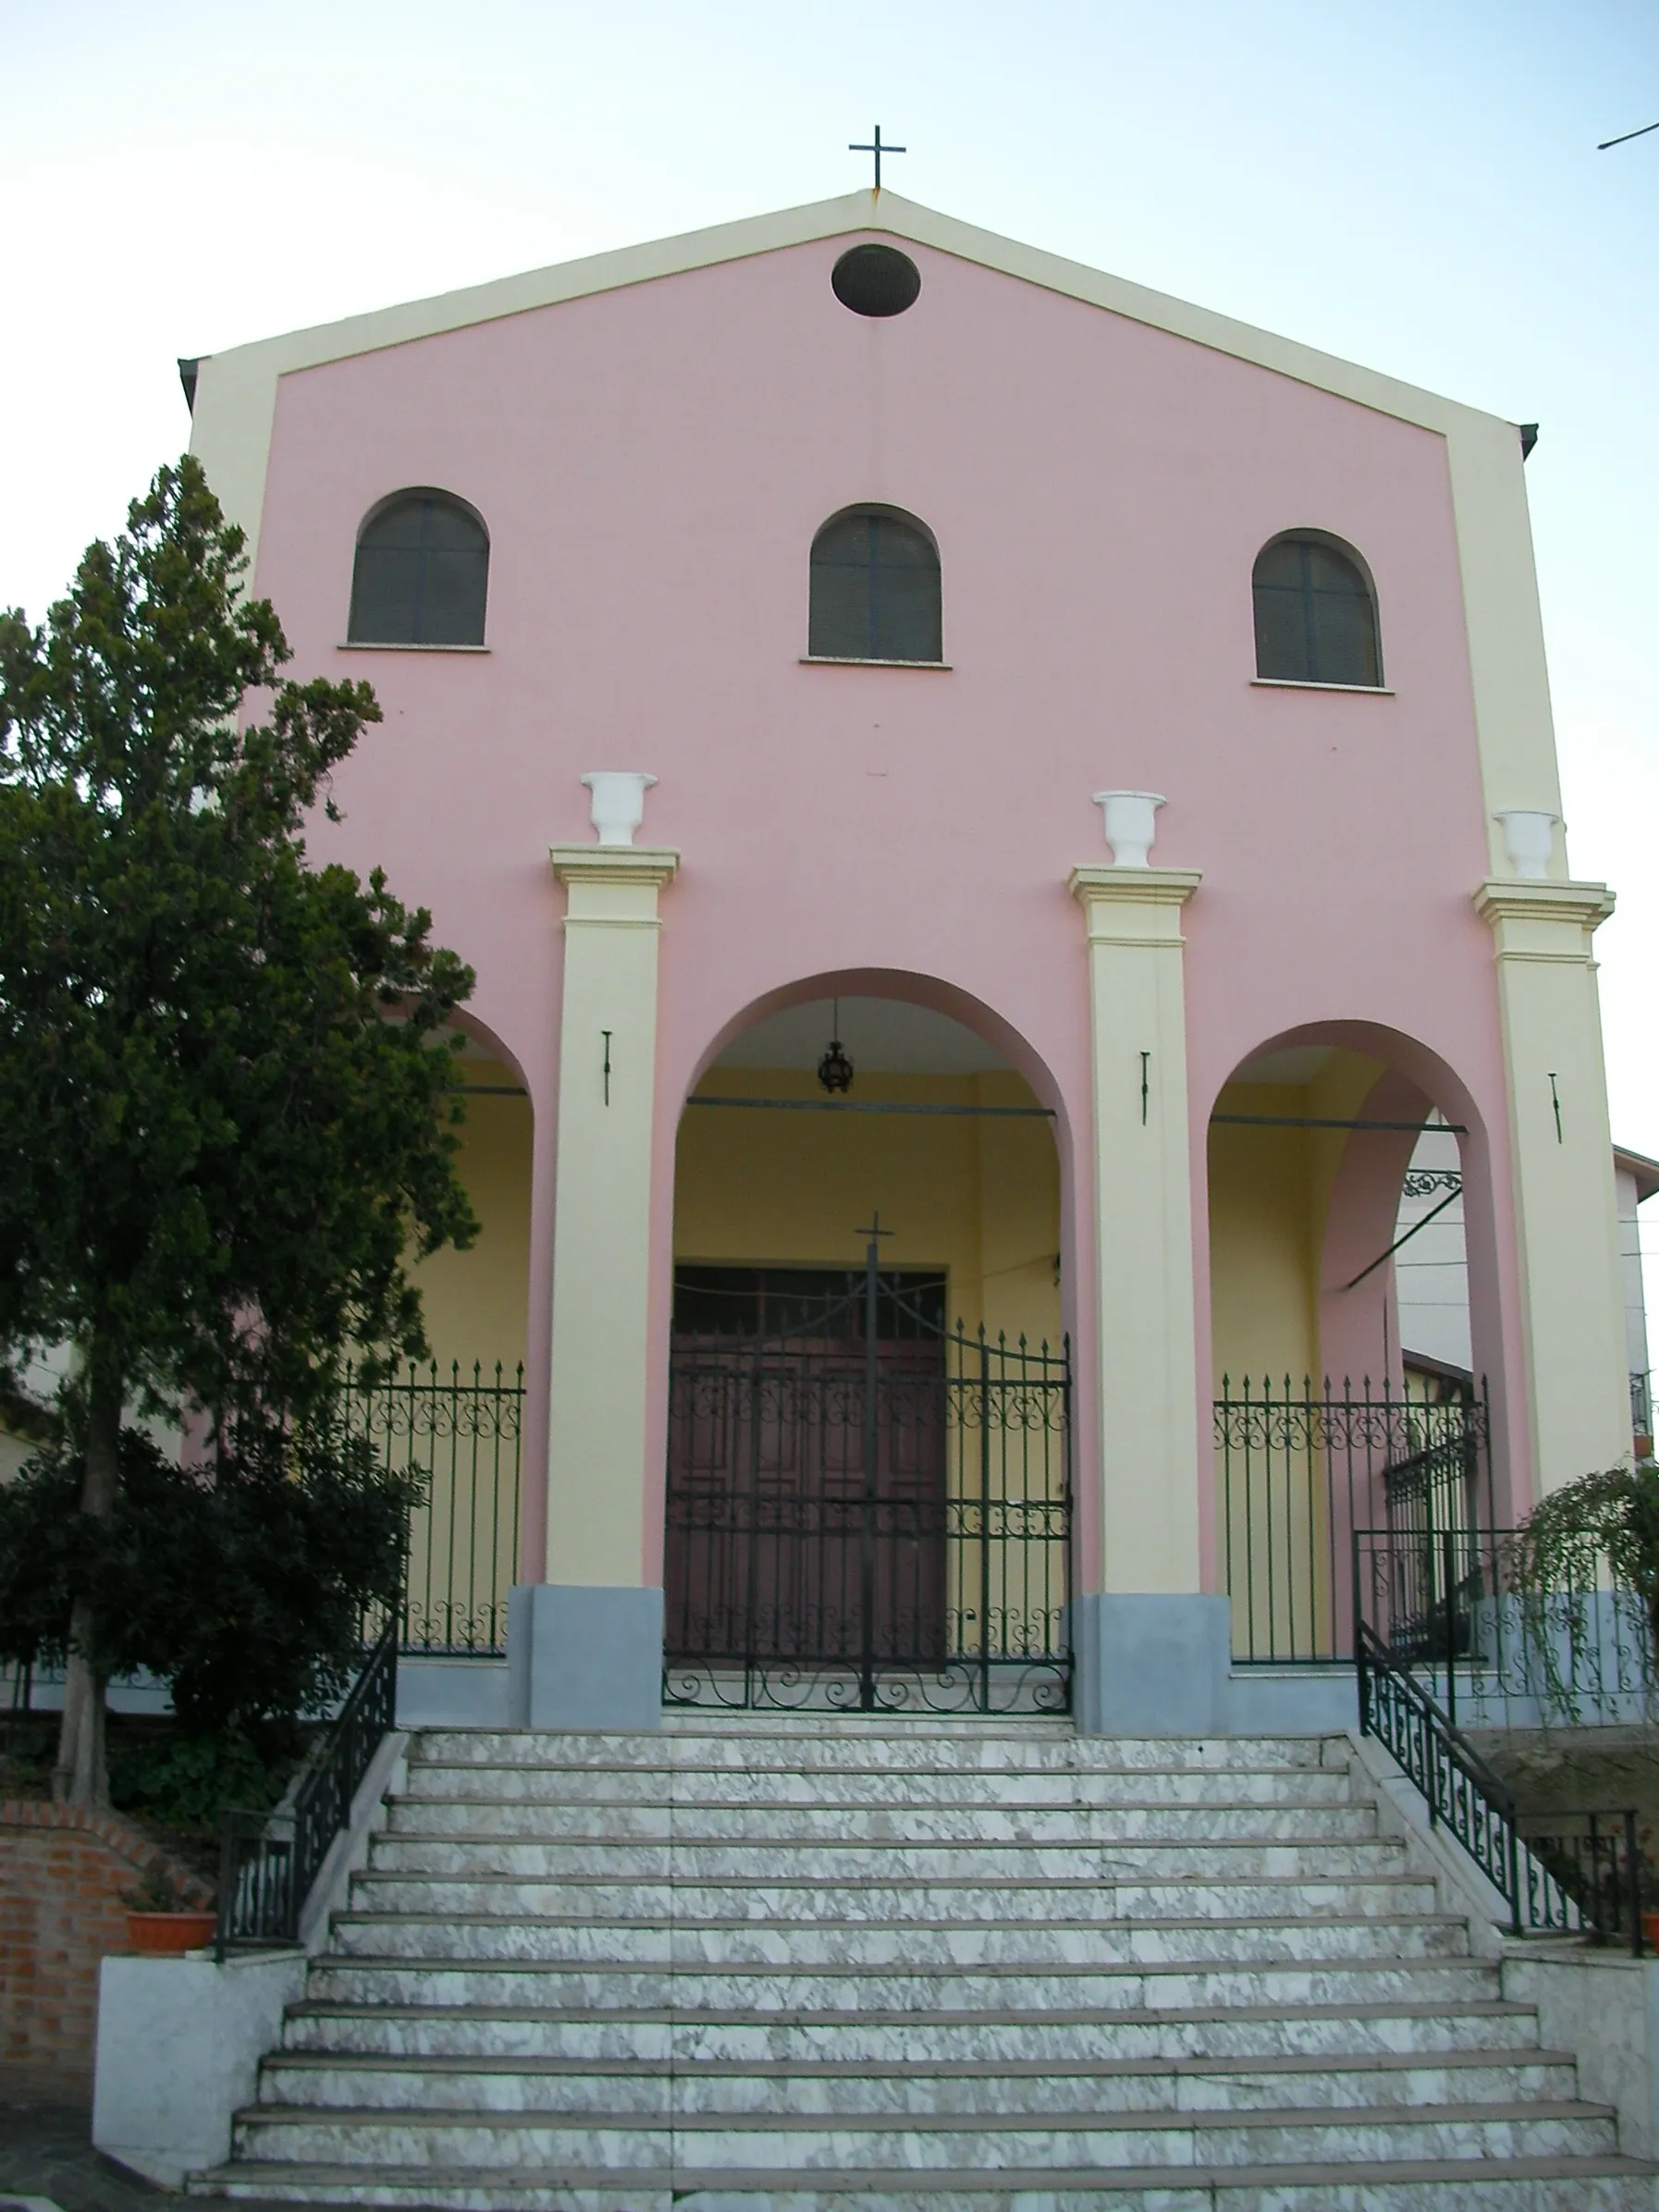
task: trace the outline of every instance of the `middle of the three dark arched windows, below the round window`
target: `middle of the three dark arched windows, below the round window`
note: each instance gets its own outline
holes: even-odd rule
[[[940,661],[938,549],[914,515],[849,507],[812,540],[807,653],[825,661]]]

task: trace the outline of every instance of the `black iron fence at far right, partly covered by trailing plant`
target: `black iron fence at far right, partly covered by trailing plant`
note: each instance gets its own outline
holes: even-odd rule
[[[1515,1528],[1354,1535],[1354,1608],[1464,1728],[1619,1728],[1659,1714],[1659,1608],[1606,1555],[1540,1588]]]

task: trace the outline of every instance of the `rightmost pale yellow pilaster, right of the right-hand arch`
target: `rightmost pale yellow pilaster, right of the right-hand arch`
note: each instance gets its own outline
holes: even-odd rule
[[[1540,1498],[1630,1455],[1619,1221],[1590,938],[1604,883],[1475,891],[1498,949],[1526,1398]],[[1524,1504],[1524,1500],[1517,1500]]]

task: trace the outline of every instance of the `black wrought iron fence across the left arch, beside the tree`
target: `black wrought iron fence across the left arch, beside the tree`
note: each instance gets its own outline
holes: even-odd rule
[[[507,1378],[473,1360],[409,1367],[405,1376],[349,1378],[345,1422],[387,1467],[416,1478],[400,1644],[407,1652],[498,1657],[507,1650],[507,1593],[518,1579],[518,1506],[524,1367]],[[383,1615],[365,1624],[365,1641]]]

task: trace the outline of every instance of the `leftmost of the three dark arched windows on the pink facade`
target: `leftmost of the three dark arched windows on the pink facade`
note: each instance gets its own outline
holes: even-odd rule
[[[484,524],[447,491],[398,491],[356,542],[354,646],[482,646],[489,588]]]

